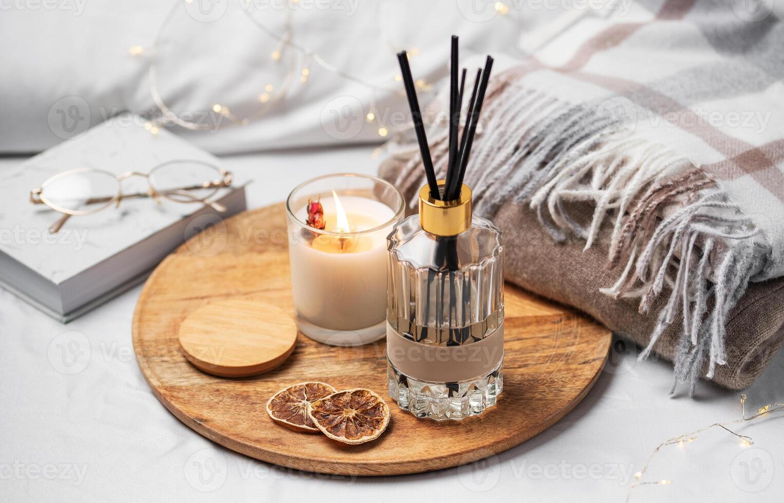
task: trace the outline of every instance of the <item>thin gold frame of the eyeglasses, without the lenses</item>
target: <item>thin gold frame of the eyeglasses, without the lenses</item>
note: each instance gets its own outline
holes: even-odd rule
[[[156,170],[172,164],[180,164],[185,162],[215,169],[216,174],[220,174],[220,178],[205,180],[205,182],[201,183],[201,185],[178,187],[176,189],[168,189],[168,190],[158,190],[153,186],[150,176]],[[103,173],[117,180],[117,194],[114,194],[113,196],[91,197],[87,201],[85,201],[85,204],[104,203],[103,206],[101,206],[100,208],[95,208],[91,210],[70,210],[67,208],[63,208],[58,204],[53,203],[53,201],[50,201],[49,199],[46,198],[44,194],[44,189],[50,183],[53,183],[56,180],[62,179],[66,176],[76,175],[78,173],[87,173],[87,172]],[[149,190],[147,190],[147,192],[138,192],[135,194],[122,194],[122,181],[125,179],[129,179],[132,176],[143,176],[145,179],[147,179],[147,185],[149,186]],[[159,165],[155,165],[147,173],[129,171],[123,173],[122,175],[114,175],[114,173],[112,172],[108,172],[106,170],[97,169],[97,168],[76,168],[61,173],[57,173],[55,176],[52,176],[51,178],[47,179],[44,183],[42,183],[41,186],[31,190],[30,202],[33,204],[46,204],[47,206],[49,206],[49,208],[52,208],[54,211],[64,214],[62,217],[60,217],[60,219],[58,219],[55,223],[53,223],[52,226],[49,227],[50,233],[56,233],[60,231],[60,229],[67,222],[67,220],[70,219],[71,216],[73,215],[92,215],[93,213],[100,212],[101,210],[110,207],[112,203],[114,203],[114,208],[117,209],[120,207],[120,201],[122,201],[123,199],[130,199],[133,197],[151,197],[154,201],[158,202],[159,204],[161,202],[160,201],[161,197],[176,203],[202,203],[208,205],[210,208],[215,209],[217,212],[225,212],[226,207],[223,206],[223,204],[216,203],[215,201],[209,201],[209,198],[215,195],[215,193],[221,187],[230,186],[233,180],[234,180],[234,176],[232,175],[231,172],[223,168],[220,168],[219,166],[213,165],[210,162],[196,161],[192,159],[173,159],[172,161],[165,161]],[[205,197],[196,197],[193,194],[188,193],[188,190],[197,190],[197,189],[214,189],[214,190],[212,190],[212,192]],[[182,197],[184,201],[183,199],[178,199],[177,197]]]

